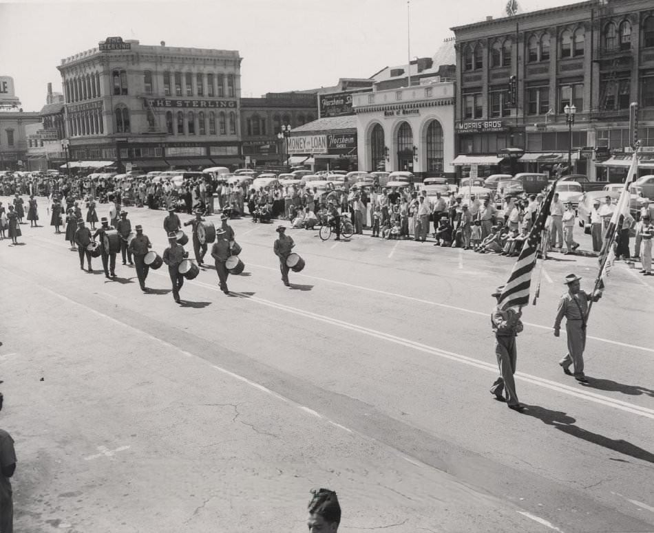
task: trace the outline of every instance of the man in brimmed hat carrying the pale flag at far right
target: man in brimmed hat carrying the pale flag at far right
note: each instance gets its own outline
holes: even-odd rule
[[[587,294],[580,290],[579,281],[581,278],[575,274],[565,276],[565,285],[568,292],[561,296],[554,319],[554,336],[560,336],[561,320],[565,316],[565,330],[568,336],[568,353],[559,361],[563,372],[567,376],[574,376],[582,383],[588,380],[584,376],[584,349],[586,348],[586,316],[588,314],[588,302],[596,302],[602,297],[602,291]],[[574,372],[569,370],[573,365]]]

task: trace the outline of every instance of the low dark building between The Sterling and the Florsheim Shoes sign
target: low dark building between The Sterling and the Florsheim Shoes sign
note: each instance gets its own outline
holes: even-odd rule
[[[261,98],[241,98],[243,155],[254,165],[284,164],[284,141],[277,138],[283,126],[296,128],[318,116],[315,93],[267,93]]]

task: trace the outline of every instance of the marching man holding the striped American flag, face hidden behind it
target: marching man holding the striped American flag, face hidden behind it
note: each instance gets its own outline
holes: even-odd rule
[[[504,287],[505,285],[500,285],[492,294],[498,302]],[[499,305],[495,306],[491,314],[491,324],[495,334],[495,356],[498,367],[500,367],[500,376],[493,383],[490,393],[495,395],[500,402],[507,402],[509,409],[514,411],[523,411],[524,409],[518,402],[516,382],[513,377],[516,373],[518,358],[516,336],[523,331],[523,323],[520,321],[522,314],[522,311],[516,312],[510,307],[502,309]],[[506,399],[503,391],[506,391]]]

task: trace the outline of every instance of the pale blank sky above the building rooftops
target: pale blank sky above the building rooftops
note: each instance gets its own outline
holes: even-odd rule
[[[505,16],[506,0],[0,0],[0,76],[25,111],[45,104],[56,65],[107,36],[143,45],[238,50],[241,96],[368,78],[410,56],[432,56],[450,28]],[[576,3],[518,0],[520,10]],[[409,14],[409,16],[408,16]],[[408,40],[408,25],[410,40]]]

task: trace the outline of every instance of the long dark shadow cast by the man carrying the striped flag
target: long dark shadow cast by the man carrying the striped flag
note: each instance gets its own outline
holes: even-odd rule
[[[544,424],[548,426],[553,426],[563,433],[567,433],[572,437],[577,437],[578,439],[591,442],[592,444],[597,444],[606,448],[608,450],[613,450],[614,452],[622,453],[624,455],[629,455],[629,457],[634,457],[635,459],[641,459],[642,461],[647,461],[648,463],[654,464],[654,454],[631,444],[622,439],[609,439],[609,437],[604,437],[599,433],[592,433],[591,431],[586,431],[583,428],[575,426],[576,419],[563,413],[562,411],[551,411],[550,409],[545,409],[545,407],[540,407],[538,405],[527,405],[523,404],[527,409],[523,411],[523,415],[531,416],[538,418]],[[611,458],[613,459],[613,458]]]

